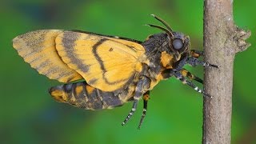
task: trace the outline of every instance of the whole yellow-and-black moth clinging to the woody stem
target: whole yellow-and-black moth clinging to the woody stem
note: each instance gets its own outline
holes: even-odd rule
[[[13,39],[14,49],[39,74],[63,82],[50,88],[50,95],[86,110],[111,109],[133,102],[122,126],[132,117],[140,99],[146,116],[150,90],[161,80],[176,77],[205,96],[192,80],[202,83],[183,66],[211,66],[198,58],[202,51],[190,50],[189,36],[166,27],[147,25],[163,31],[140,42],[79,30],[35,30]]]

